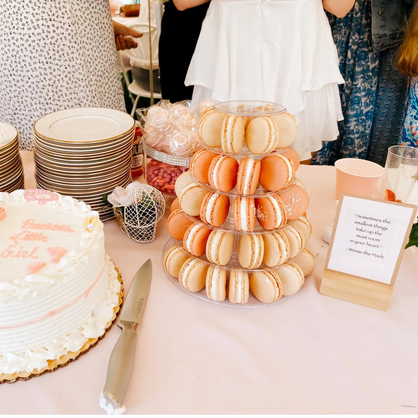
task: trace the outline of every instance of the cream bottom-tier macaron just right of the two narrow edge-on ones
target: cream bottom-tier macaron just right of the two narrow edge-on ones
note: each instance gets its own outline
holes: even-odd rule
[[[273,270],[262,270],[250,273],[250,291],[263,303],[271,303],[283,294],[283,285]]]

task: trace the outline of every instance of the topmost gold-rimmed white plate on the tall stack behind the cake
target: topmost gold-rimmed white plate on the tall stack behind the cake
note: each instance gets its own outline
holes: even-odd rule
[[[134,118],[120,110],[78,107],[59,110],[38,119],[33,130],[59,143],[101,143],[117,138],[135,127]]]

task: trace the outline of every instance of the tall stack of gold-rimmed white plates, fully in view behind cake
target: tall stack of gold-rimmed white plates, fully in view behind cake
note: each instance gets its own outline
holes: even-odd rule
[[[119,110],[80,107],[41,117],[33,125],[35,178],[40,189],[82,200],[114,217],[103,195],[131,181],[135,120]]]

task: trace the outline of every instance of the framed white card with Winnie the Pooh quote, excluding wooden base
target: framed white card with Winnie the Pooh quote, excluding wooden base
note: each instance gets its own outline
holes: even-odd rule
[[[326,269],[393,285],[415,216],[411,205],[343,195]]]

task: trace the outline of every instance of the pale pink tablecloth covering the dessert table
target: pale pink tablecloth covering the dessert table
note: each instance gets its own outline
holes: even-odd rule
[[[22,155],[26,187],[34,187],[31,153]],[[167,214],[148,244],[127,238],[116,221],[105,224],[106,249],[126,289],[149,257],[153,263],[126,413],[418,412],[415,249],[405,251],[388,312],[318,293],[328,250],[321,232],[335,212],[334,170],[298,170],[311,196],[307,246],[317,265],[302,291],[276,306],[216,306],[176,288],[161,265]],[[2,385],[2,413],[103,413],[99,395],[119,335],[113,326],[76,362]]]

